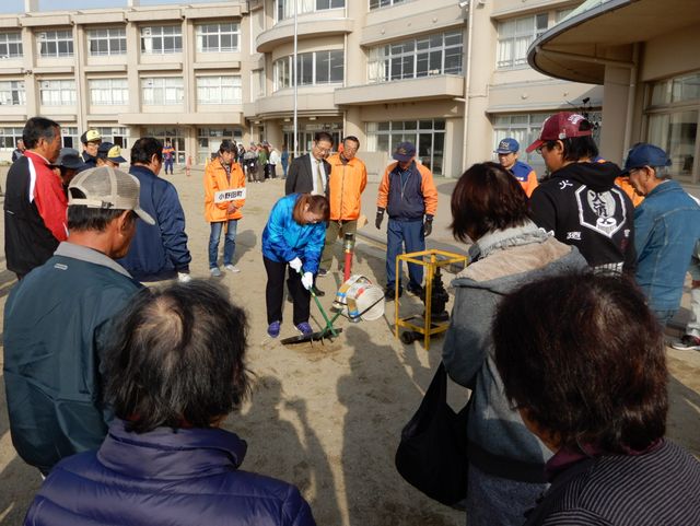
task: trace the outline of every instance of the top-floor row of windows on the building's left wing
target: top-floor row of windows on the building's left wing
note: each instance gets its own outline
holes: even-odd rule
[[[241,24],[200,24],[196,27],[197,51],[237,51],[241,42]],[[42,57],[72,57],[72,31],[43,31],[37,34],[37,47]],[[127,52],[127,34],[124,27],[106,27],[88,31],[88,49],[91,56],[116,56]],[[182,52],[183,28],[179,25],[141,27],[141,52],[163,55]],[[22,57],[20,32],[0,33],[0,59]]]

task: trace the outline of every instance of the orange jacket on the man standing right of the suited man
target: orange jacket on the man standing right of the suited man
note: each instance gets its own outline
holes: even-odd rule
[[[327,161],[330,164],[330,220],[358,219],[362,210],[360,198],[368,186],[368,170],[364,163],[358,157],[343,163],[339,153],[331,155]]]

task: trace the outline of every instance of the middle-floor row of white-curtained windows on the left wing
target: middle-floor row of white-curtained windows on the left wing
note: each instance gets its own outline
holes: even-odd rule
[[[129,104],[127,79],[93,79],[88,81],[90,102],[93,105],[112,106]],[[145,105],[182,104],[184,100],[182,77],[154,77],[141,79],[141,94]],[[74,80],[44,80],[39,82],[39,98],[46,106],[75,104]],[[197,77],[198,104],[242,104],[241,75]],[[0,82],[0,105],[26,104],[24,81]]]

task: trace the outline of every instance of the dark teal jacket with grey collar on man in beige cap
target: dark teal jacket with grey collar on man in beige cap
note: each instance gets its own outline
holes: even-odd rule
[[[48,472],[100,446],[101,353],[141,284],[106,256],[61,243],[12,290],[4,309],[4,384],[18,453]]]

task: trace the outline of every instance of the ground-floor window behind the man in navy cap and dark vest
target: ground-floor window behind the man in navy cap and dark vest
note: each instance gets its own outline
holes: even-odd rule
[[[435,175],[443,174],[445,120],[392,120],[368,122],[368,151],[390,153],[399,142],[417,147],[416,157]]]

